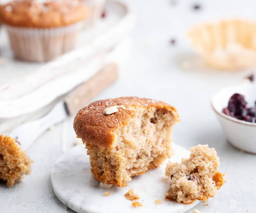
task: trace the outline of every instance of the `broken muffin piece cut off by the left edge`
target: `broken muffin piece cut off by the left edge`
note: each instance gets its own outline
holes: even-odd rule
[[[11,187],[31,172],[32,160],[15,139],[0,135],[0,180]]]

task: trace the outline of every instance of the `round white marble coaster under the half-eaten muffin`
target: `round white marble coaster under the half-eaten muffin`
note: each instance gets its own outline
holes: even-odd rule
[[[175,156],[172,162],[180,162],[181,158],[188,157],[190,152],[181,146],[173,144]],[[168,160],[166,161],[168,162]],[[199,203],[185,205],[165,200],[165,193],[169,188],[169,178],[165,176],[164,163],[160,168],[152,169],[147,173],[134,177],[127,187],[112,186],[110,189],[100,188],[99,182],[94,180],[90,172],[89,157],[83,145],[72,148],[63,154],[51,170],[52,187],[58,199],[70,209],[78,213],[177,213],[185,212]],[[132,201],[127,200],[124,194],[133,188],[140,196],[137,200],[143,207],[134,208]],[[109,191],[108,197],[104,193]],[[156,205],[160,199],[163,203]]]

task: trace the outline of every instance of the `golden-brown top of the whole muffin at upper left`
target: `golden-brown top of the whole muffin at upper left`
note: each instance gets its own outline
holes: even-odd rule
[[[0,7],[0,20],[16,27],[62,27],[87,16],[79,0],[15,0]]]

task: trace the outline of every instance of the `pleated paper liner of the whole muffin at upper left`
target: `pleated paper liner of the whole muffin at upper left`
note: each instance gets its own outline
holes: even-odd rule
[[[21,28],[6,24],[4,26],[17,58],[44,62],[76,48],[84,21],[48,29]]]

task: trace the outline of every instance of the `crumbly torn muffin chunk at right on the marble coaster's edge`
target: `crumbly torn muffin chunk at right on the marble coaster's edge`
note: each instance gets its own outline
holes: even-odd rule
[[[167,164],[166,176],[171,177],[165,197],[168,200],[185,204],[191,204],[196,199],[208,200],[224,184],[223,176],[218,171],[220,161],[215,149],[199,144],[190,150],[190,157],[182,159],[180,164]]]

